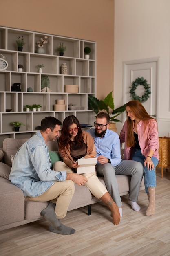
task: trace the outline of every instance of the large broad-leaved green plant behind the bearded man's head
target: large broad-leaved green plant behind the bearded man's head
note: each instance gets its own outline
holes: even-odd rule
[[[116,119],[116,117],[125,111],[126,105],[124,104],[123,106],[114,109],[115,105],[112,92],[110,92],[103,101],[92,95],[88,95],[88,108],[93,109],[96,115],[101,111],[107,112],[108,115],[110,115],[110,122],[121,122],[121,120]]]

